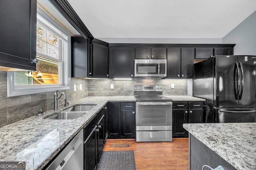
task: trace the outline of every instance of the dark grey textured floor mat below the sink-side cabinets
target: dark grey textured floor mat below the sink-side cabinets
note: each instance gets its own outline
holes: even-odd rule
[[[97,170],[136,170],[134,151],[103,151]]]

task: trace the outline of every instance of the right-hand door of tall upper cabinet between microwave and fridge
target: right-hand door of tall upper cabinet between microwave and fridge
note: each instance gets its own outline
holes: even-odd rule
[[[181,78],[193,78],[194,77],[194,48],[182,48],[181,49]]]

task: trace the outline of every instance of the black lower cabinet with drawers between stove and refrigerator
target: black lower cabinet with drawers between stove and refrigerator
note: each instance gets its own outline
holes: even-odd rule
[[[188,137],[184,123],[203,123],[203,102],[173,102],[172,137]]]

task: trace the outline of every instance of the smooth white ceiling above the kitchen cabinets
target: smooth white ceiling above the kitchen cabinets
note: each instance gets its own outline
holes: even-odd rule
[[[97,39],[222,39],[256,0],[68,0]],[[126,42],[124,42],[126,43]]]

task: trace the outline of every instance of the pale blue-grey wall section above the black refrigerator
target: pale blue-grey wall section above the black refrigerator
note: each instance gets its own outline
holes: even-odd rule
[[[222,43],[236,44],[234,55],[256,55],[256,12],[223,37]]]

